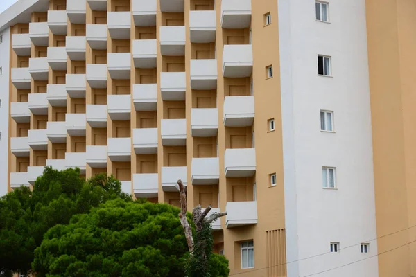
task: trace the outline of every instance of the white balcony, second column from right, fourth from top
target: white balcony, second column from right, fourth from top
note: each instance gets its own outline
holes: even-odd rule
[[[220,180],[220,159],[193,158],[191,168],[193,185],[218,184]]]

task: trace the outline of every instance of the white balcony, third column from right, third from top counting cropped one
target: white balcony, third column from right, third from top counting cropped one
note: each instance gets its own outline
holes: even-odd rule
[[[160,91],[162,100],[184,101],[187,91],[187,75],[184,72],[161,72]]]

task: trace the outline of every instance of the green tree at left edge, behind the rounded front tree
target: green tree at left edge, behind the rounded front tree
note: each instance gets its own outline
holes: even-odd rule
[[[34,251],[46,231],[118,198],[132,201],[114,177],[96,175],[85,181],[79,169],[45,168],[33,191],[22,186],[0,199],[0,272],[10,276],[31,271]]]

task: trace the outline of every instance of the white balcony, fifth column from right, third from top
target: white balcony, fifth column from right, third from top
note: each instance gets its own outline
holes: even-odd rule
[[[107,111],[112,120],[130,120],[132,96],[130,94],[107,96]]]

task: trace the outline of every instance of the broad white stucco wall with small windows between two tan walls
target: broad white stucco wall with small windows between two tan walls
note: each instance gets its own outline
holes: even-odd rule
[[[288,277],[378,276],[365,0],[327,0],[330,24],[315,21],[315,1],[278,2]],[[335,133],[320,132],[321,109]],[[336,167],[337,190],[322,188],[322,166]]]

